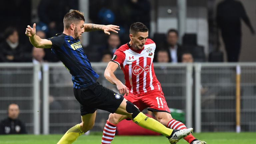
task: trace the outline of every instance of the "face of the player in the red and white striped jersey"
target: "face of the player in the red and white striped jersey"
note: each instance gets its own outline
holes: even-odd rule
[[[144,48],[144,45],[148,38],[148,32],[137,32],[132,35],[132,45],[135,50],[140,50]]]

